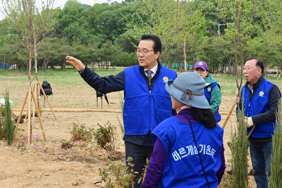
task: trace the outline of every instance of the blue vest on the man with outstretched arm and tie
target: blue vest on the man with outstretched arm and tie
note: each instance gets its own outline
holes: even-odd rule
[[[163,120],[172,116],[170,95],[166,82],[175,80],[176,72],[161,66],[151,91],[139,70],[139,65],[124,69],[125,97],[123,124],[126,134],[142,135],[153,131]]]

